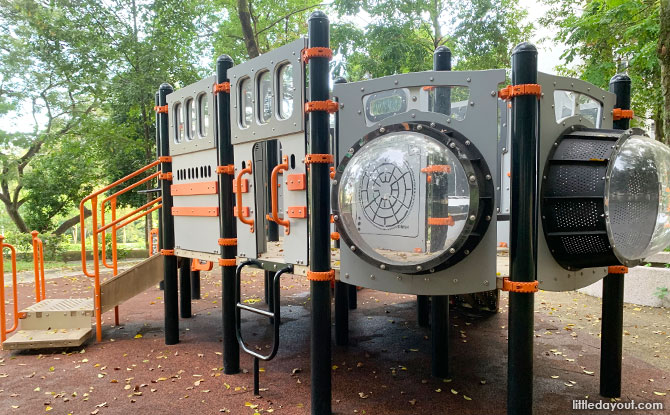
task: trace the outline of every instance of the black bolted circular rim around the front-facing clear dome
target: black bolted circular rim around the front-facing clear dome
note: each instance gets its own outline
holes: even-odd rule
[[[451,151],[454,154],[454,156],[456,156],[456,159],[461,162],[461,166],[463,167],[466,176],[470,177],[471,175],[474,175],[474,177],[476,178],[474,182],[468,180],[468,187],[470,191],[470,205],[468,207],[468,214],[467,214],[468,219],[471,218],[472,216],[474,216],[475,219],[466,221],[463,230],[458,236],[456,242],[451,245],[450,249],[445,250],[443,253],[436,255],[421,264],[399,265],[389,263],[387,261],[380,261],[379,258],[367,254],[366,252],[364,252],[363,249],[358,249],[359,247],[354,243],[353,239],[349,236],[347,230],[344,228],[344,226],[341,225],[342,222],[340,217],[340,206],[338,196],[340,190],[340,183],[342,181],[342,175],[344,174],[344,171],[346,170],[348,163],[353,159],[353,156],[358,151],[360,151],[362,148],[365,147],[366,144],[372,142],[377,138],[397,132],[416,132],[437,140],[438,142],[443,144],[447,149],[449,149],[449,151]],[[447,136],[447,134],[445,133],[451,134],[451,137]],[[453,147],[451,147],[452,143]],[[458,154],[456,153],[457,150],[461,151],[461,153],[468,155],[468,158],[467,159],[459,158]],[[475,155],[475,157],[470,157],[470,155],[473,154]],[[467,249],[464,250],[463,248],[466,245],[470,245],[468,244],[468,241],[470,239],[475,238],[475,236],[472,235],[472,231],[484,218],[486,218],[485,220],[486,227],[488,227],[488,224],[490,223],[490,218],[493,215],[493,208],[494,208],[493,203],[491,203],[489,209],[490,212],[483,212],[483,214],[478,215],[478,211],[480,208],[481,194],[484,193],[492,195],[493,183],[492,180],[490,179],[480,180],[480,178],[477,177],[475,168],[472,166],[472,163],[470,162],[470,160],[474,158],[478,158],[481,160],[481,166],[483,170],[481,173],[486,177],[491,177],[486,161],[484,160],[483,156],[481,156],[481,153],[479,153],[474,144],[472,144],[470,140],[468,140],[464,135],[459,133],[457,130],[454,130],[453,128],[447,127],[442,124],[428,123],[421,121],[395,123],[381,126],[369,132],[368,134],[364,135],[341,158],[340,164],[338,165],[336,170],[335,182],[331,187],[331,204],[332,204],[333,219],[342,240],[347,244],[349,249],[351,249],[351,251],[356,256],[363,259],[368,264],[371,264],[379,269],[403,274],[432,273],[452,265],[450,264],[451,262],[450,260],[459,259],[462,256],[467,256],[468,254],[470,254],[470,250]],[[482,192],[480,189],[486,186],[490,187],[490,189],[488,189],[489,191]],[[478,238],[479,240],[482,239],[481,237]],[[474,246],[478,244],[479,240],[477,240],[474,243]],[[474,246],[472,246],[471,249],[473,249]]]

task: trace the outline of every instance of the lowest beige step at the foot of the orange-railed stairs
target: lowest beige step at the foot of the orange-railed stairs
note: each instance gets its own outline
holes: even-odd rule
[[[90,320],[90,317],[89,317]],[[84,344],[93,328],[56,330],[19,330],[2,343],[3,350],[46,349],[52,347],[78,347]]]

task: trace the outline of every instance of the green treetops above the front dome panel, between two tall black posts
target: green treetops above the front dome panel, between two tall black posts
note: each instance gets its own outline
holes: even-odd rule
[[[526,12],[517,0],[339,0],[335,9],[345,21],[361,11],[371,17],[363,28],[334,25],[332,43],[344,56],[336,72],[350,80],[425,71],[441,45],[457,69],[507,67],[514,45],[532,31],[520,23]]]

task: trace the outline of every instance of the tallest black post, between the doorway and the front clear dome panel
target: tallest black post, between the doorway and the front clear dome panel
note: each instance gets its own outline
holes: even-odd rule
[[[330,47],[328,17],[315,11],[308,20],[309,47]],[[325,57],[309,60],[310,101],[330,98],[329,64]],[[309,114],[309,149],[312,154],[329,152],[329,114]],[[329,272],[330,267],[330,177],[329,165],[313,163],[309,169],[309,266],[312,272]],[[312,297],[310,367],[312,414],[330,415],[331,390],[331,316],[330,281],[310,281]]]

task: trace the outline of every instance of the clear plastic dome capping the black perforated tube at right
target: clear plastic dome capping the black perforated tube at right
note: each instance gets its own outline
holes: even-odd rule
[[[605,209],[615,255],[625,262],[670,246],[670,149],[634,135],[620,145],[608,176]]]

